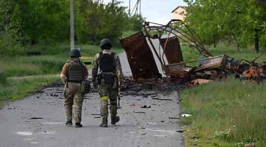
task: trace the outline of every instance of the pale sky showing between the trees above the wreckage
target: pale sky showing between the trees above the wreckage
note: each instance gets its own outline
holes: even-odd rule
[[[110,2],[112,0],[103,0]],[[129,0],[120,0],[124,2],[124,6],[129,6]],[[131,0],[133,9],[137,0]],[[146,18],[147,22],[166,25],[173,19],[172,10],[177,6],[186,6],[183,0],[141,0],[141,13]]]

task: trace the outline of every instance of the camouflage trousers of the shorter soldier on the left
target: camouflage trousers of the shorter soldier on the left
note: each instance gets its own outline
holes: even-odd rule
[[[72,121],[74,117],[75,123],[81,122],[82,103],[84,99],[84,82],[82,83],[66,83],[65,85],[65,109],[66,120]],[[72,106],[74,107],[74,115],[72,114]]]

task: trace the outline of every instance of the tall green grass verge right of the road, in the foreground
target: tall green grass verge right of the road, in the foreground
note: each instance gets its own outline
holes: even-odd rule
[[[189,136],[199,136],[200,147],[266,147],[266,82],[252,84],[228,78],[181,92],[182,118]],[[187,139],[187,147],[194,144]],[[208,146],[206,144],[209,144]]]

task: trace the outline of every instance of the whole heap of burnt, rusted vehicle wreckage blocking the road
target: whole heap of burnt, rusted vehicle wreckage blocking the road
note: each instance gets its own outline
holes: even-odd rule
[[[198,50],[201,57],[184,62],[180,40]],[[155,57],[168,81],[191,81],[187,86],[224,78],[229,74],[255,81],[266,77],[266,62],[255,62],[262,55],[253,61],[238,60],[228,55],[213,56],[204,48],[199,35],[181,20],[171,20],[167,25],[145,22],[143,31],[123,38],[120,42],[126,51],[133,79],[139,83],[162,77]],[[193,62],[198,62],[199,66],[188,66],[188,63]]]

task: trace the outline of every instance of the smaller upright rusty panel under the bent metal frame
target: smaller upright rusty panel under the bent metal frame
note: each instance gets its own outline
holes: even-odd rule
[[[168,39],[166,44],[167,38],[160,39],[161,46],[165,48],[165,55],[169,64],[183,62],[183,55],[180,47],[180,43],[177,37],[171,37]]]

